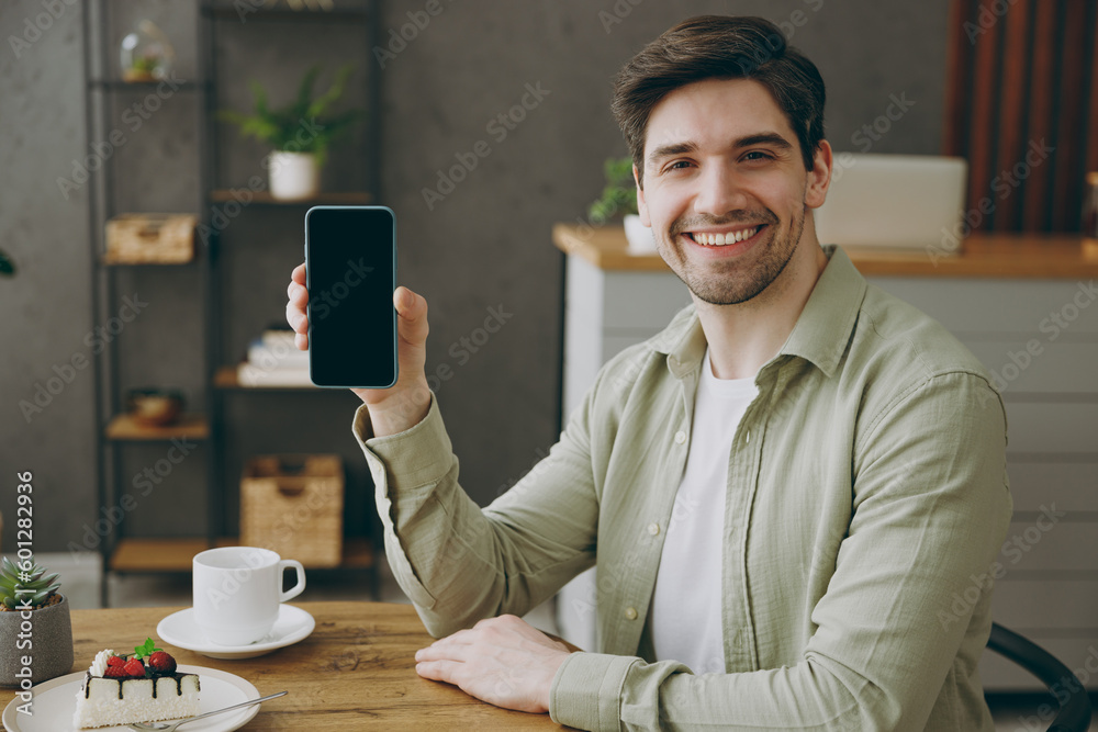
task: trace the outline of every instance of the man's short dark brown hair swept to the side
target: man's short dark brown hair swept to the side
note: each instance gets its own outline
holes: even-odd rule
[[[766,87],[797,134],[805,169],[813,169],[826,100],[816,65],[763,18],[698,15],[645,46],[615,79],[610,110],[641,174],[652,109],[675,89],[704,79],[752,79]]]

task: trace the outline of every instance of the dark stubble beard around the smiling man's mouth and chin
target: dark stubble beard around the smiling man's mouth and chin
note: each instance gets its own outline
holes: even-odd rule
[[[683,249],[688,245],[679,239],[679,233],[690,230],[691,226],[697,226],[697,222],[672,224],[672,234],[668,235],[671,243],[670,245],[663,243],[663,247],[672,256],[664,257],[664,260],[698,300],[710,305],[746,303],[766,290],[782,274],[793,259],[805,229],[804,209],[794,215],[789,222],[788,233],[784,237],[781,237],[781,233],[776,229],[780,221],[777,216],[769,211],[766,213],[773,222],[768,225],[770,240],[755,245],[754,251],[751,252],[755,261],[747,264],[747,269],[744,263],[739,261],[699,263],[686,257]],[[759,219],[760,217],[755,216],[750,221]],[[706,222],[706,225],[719,226],[727,223],[730,222],[717,219]]]

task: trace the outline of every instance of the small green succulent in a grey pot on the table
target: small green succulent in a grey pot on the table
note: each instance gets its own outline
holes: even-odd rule
[[[72,623],[57,574],[34,562],[0,567],[0,686],[23,690],[72,671]]]

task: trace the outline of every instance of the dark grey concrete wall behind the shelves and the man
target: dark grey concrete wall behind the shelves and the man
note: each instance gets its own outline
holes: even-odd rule
[[[126,10],[115,19],[113,33],[121,37],[133,18],[163,20],[176,41],[181,75],[190,74],[195,68],[193,2],[115,2]],[[408,13],[424,4],[386,2],[383,38],[388,42],[391,30],[400,33]],[[554,222],[585,215],[603,184],[603,159],[625,153],[607,109],[609,78],[645,43],[693,14],[765,15],[784,23],[793,44],[819,65],[828,82],[827,128],[836,149],[864,150],[866,142],[874,153],[940,149],[945,0],[648,0],[636,5],[626,0],[442,0],[441,7],[403,48],[393,46],[399,52],[381,69],[382,189],[383,202],[399,218],[401,280],[430,304],[427,370],[444,376],[437,382],[438,399],[461,460],[462,482],[481,503],[519,477],[556,439],[562,256],[551,246],[549,230]],[[24,19],[42,8],[41,0],[3,3],[0,37],[21,34]],[[30,424],[19,408],[21,399],[33,397],[36,383],[54,375],[55,364],[88,352],[82,339],[96,325],[89,314],[86,189],[66,200],[56,183],[70,174],[74,158],[89,153],[80,10],[67,10],[52,25],[19,59],[8,43],[0,48],[5,173],[0,247],[22,268],[15,280],[0,281],[5,314],[0,318],[0,466],[9,485],[14,471],[34,471],[36,544],[43,550],[79,543],[83,525],[93,522],[99,510],[91,370],[80,372]],[[243,80],[251,76],[276,88],[281,80],[283,93],[290,93],[313,57],[329,68],[344,59],[379,64],[360,36],[340,27],[248,22],[220,34],[219,44],[223,71],[242,72],[225,71],[217,103],[238,109],[248,103]],[[537,106],[513,128],[491,125],[528,88],[542,90]],[[892,95],[914,104],[896,121],[878,121],[878,131],[888,128],[874,133],[877,139],[855,137],[885,113]],[[120,205],[197,210],[198,119],[193,99],[179,97],[133,133],[116,160]],[[219,139],[221,184],[239,185],[259,170],[259,146],[227,132]],[[481,140],[491,150],[488,157],[452,191],[439,189],[439,171]],[[358,142],[352,138],[333,156],[328,187],[361,180]],[[424,189],[445,195],[432,196],[428,204]],[[300,228],[300,214],[290,210],[249,211],[226,229],[221,268],[226,295],[219,314],[226,359],[282,316],[289,270],[301,257]],[[143,296],[153,303],[121,336],[124,386],[171,383],[197,402],[203,398],[195,278],[197,271],[145,270],[120,278],[120,295],[147,293]],[[494,313],[503,314],[503,326],[484,340],[480,329]],[[365,530],[371,498],[347,431],[354,407],[347,394],[227,397],[223,480],[229,493],[235,495],[239,464],[250,453],[336,451],[348,461],[355,485],[348,523]],[[165,449],[127,448],[123,474],[138,473]],[[201,530],[205,455],[201,449],[195,455],[165,481],[164,489],[142,502],[134,514],[139,529]],[[0,492],[9,526],[12,495]],[[226,507],[228,526],[236,518],[234,506],[235,498]],[[13,548],[12,540],[5,531],[5,550]]]

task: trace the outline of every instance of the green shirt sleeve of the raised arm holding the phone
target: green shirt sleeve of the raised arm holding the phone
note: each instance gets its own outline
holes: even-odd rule
[[[581,410],[582,412],[582,410]],[[458,483],[438,403],[397,435],[371,437],[366,406],[354,431],[370,466],[385,553],[436,638],[501,613],[525,615],[594,564],[597,502],[583,417],[549,455],[491,506]]]

